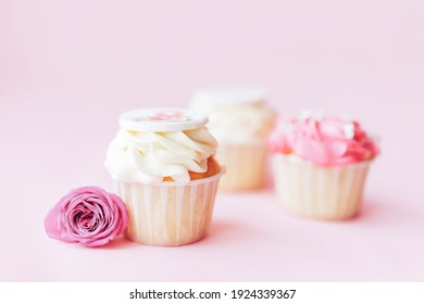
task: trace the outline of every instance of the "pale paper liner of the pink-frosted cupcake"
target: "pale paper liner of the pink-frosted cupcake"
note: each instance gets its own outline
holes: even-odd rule
[[[346,219],[361,208],[371,161],[320,167],[273,155],[274,185],[282,206],[301,216]]]

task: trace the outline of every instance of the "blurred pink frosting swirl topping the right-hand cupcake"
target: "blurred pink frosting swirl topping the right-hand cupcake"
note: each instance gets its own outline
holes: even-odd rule
[[[283,121],[271,134],[269,149],[273,153],[296,154],[319,166],[352,164],[379,153],[359,123],[337,117]]]

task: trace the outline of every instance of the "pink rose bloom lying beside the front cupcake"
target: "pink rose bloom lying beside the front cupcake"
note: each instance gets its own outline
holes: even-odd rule
[[[50,238],[86,246],[109,243],[124,231],[127,224],[124,202],[99,187],[71,190],[45,218]]]

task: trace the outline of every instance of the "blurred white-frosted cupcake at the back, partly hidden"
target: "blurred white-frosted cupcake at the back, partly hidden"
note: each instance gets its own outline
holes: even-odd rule
[[[208,128],[220,142],[216,160],[225,165],[221,189],[252,190],[263,186],[266,138],[275,114],[259,89],[199,90],[190,106],[210,112]]]

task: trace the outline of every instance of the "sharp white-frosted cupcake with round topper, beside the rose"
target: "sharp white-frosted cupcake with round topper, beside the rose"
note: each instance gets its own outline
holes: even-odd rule
[[[150,245],[202,239],[223,169],[203,112],[141,109],[123,113],[105,167],[128,208],[126,238]]]

